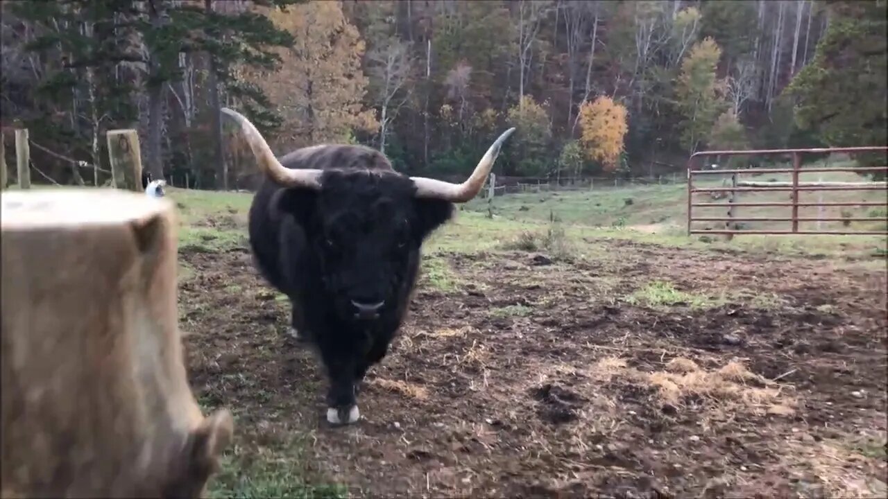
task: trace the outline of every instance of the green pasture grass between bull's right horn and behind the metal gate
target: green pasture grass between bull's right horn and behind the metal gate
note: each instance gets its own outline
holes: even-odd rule
[[[830,166],[845,165],[833,161]],[[801,176],[801,180],[860,182],[864,178],[848,172],[817,172],[813,167]],[[721,186],[726,176],[701,177],[695,180],[698,186]],[[767,174],[753,177],[742,174],[741,180],[789,181],[789,174]],[[884,202],[883,191],[829,191],[803,192],[801,202],[817,202],[822,195],[823,202]],[[488,201],[475,199],[465,205],[460,213],[460,234],[466,222],[471,234],[484,229],[493,238],[503,238],[504,232],[511,232],[515,239],[522,231],[533,231],[544,225],[554,214],[567,226],[567,235],[573,239],[613,238],[650,242],[662,246],[690,247],[697,249],[728,249],[737,252],[781,254],[787,256],[813,256],[869,258],[884,257],[888,254],[886,238],[878,235],[757,235],[742,234],[732,241],[726,241],[718,234],[686,234],[687,190],[685,184],[663,186],[627,186],[596,188],[594,190],[561,191],[525,194],[505,194],[494,199],[493,220],[486,218]],[[725,207],[696,208],[695,218],[725,217],[726,199],[711,200],[705,194],[695,194],[699,202],[721,202]],[[627,200],[631,200],[628,203]],[[738,202],[789,202],[789,193],[742,193]],[[884,209],[873,207],[850,207],[846,212],[853,217],[884,217]],[[746,207],[735,209],[737,217],[747,218],[789,218],[789,207]],[[469,221],[470,216],[472,218]],[[840,207],[829,207],[820,213],[817,208],[802,207],[799,216],[805,218],[839,218]],[[486,224],[484,221],[489,223]],[[720,222],[698,222],[700,228],[723,227]],[[884,223],[852,222],[845,227],[842,222],[823,222],[823,230],[884,230]],[[789,222],[747,222],[747,229],[788,229]],[[801,222],[800,230],[814,230],[815,222]],[[654,234],[651,234],[654,233]],[[506,237],[506,239],[509,239]],[[488,242],[490,239],[488,238]],[[502,244],[502,243],[501,243]],[[508,244],[508,242],[507,242]],[[582,251],[582,249],[581,249]]]

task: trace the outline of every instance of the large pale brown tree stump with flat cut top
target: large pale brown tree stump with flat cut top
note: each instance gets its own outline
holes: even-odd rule
[[[196,497],[231,439],[187,383],[171,203],[2,198],[0,494]]]

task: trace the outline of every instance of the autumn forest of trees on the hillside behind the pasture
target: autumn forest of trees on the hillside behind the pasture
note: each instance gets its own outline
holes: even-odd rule
[[[441,178],[507,126],[496,172],[534,177],[885,145],[886,4],[4,0],[0,120],[31,131],[48,178],[82,185],[107,181],[105,132],[136,128],[155,178],[251,186],[223,106],[278,154],[362,143]]]

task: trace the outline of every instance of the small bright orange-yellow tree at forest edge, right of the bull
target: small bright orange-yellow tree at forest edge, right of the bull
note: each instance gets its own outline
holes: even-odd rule
[[[626,118],[626,107],[607,96],[585,102],[580,107],[583,153],[600,162],[607,171],[614,170],[620,159],[623,139],[629,131]]]

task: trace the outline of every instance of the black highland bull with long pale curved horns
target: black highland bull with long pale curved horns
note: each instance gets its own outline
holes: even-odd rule
[[[356,393],[385,357],[407,312],[424,239],[484,185],[501,135],[462,184],[407,177],[375,149],[321,145],[275,158],[240,123],[266,179],[250,206],[256,265],[293,306],[292,331],[320,353],[329,376],[327,420],[360,417]]]

